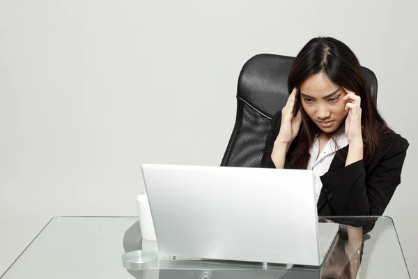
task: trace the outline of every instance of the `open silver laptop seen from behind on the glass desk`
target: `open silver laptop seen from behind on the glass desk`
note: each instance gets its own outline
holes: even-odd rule
[[[161,255],[320,266],[338,232],[308,170],[141,168]]]

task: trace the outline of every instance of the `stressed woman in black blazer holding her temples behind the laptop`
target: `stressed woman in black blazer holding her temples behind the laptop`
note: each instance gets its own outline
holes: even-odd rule
[[[334,38],[310,40],[288,89],[262,166],[312,169],[320,216],[382,215],[401,183],[409,144],[380,116],[355,54]]]

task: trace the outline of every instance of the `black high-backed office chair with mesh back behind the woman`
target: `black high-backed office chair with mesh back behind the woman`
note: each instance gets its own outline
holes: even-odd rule
[[[286,105],[287,80],[294,59],[291,56],[258,54],[244,64],[238,78],[235,126],[222,166],[261,167],[270,120]],[[362,68],[376,103],[378,80],[371,70]]]

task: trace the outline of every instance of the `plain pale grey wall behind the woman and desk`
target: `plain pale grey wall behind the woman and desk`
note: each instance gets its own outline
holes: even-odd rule
[[[0,273],[53,216],[137,213],[141,163],[219,165],[242,64],[334,36],[410,141],[385,214],[418,234],[414,1],[0,1]]]

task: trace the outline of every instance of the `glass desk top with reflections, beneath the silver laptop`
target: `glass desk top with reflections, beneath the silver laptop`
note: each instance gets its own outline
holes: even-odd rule
[[[391,218],[330,217],[320,222],[340,224],[339,237],[322,266],[158,255],[140,268],[125,269],[126,252],[158,252],[156,242],[141,239],[137,218],[54,218],[1,278],[410,278]]]

